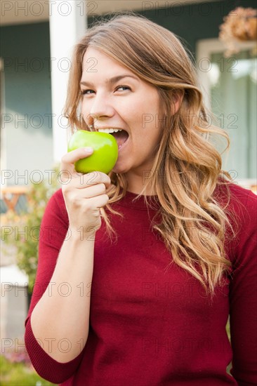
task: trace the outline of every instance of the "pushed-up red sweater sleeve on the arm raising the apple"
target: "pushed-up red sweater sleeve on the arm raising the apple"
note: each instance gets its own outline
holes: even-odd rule
[[[65,240],[68,227],[69,221],[65,202],[62,197],[62,191],[59,189],[48,201],[46,211],[41,221],[37,277],[34,283],[29,312],[25,320],[25,345],[29,358],[37,373],[39,373],[42,378],[53,383],[64,382],[74,374],[83,357],[83,351],[67,363],[55,361],[55,359],[51,358],[44,350],[44,347],[48,347],[47,345],[51,344],[51,340],[39,342],[39,340],[34,337],[30,317],[35,305],[37,305],[37,302],[51,281],[58,254]]]

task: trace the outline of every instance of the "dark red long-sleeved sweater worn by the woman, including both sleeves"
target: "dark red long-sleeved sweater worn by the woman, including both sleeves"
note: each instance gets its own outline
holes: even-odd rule
[[[223,189],[216,190],[219,197]],[[124,213],[123,220],[110,215],[119,239],[110,243],[102,220],[88,340],[66,364],[41,348],[29,318],[51,280],[69,226],[62,191],[55,192],[41,223],[37,291],[25,322],[27,352],[41,377],[63,386],[257,385],[257,197],[237,185],[230,190],[239,233],[227,242],[231,275],[212,302],[185,270],[175,264],[166,270],[171,258],[150,231],[154,210],[147,212],[143,197],[133,202],[136,194],[128,192],[113,204]],[[225,331],[229,314],[232,345]],[[226,372],[230,361],[232,375]]]

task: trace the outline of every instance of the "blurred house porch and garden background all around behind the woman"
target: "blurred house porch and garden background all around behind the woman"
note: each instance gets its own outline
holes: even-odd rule
[[[62,108],[72,47],[95,20],[119,11],[144,15],[182,39],[213,123],[230,135],[223,169],[256,193],[256,1],[2,0],[0,385],[51,385],[34,373],[23,340],[39,226],[60,186],[70,135]]]

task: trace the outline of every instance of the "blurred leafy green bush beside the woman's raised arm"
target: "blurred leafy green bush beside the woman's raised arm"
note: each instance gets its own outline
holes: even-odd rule
[[[1,239],[5,244],[15,246],[17,265],[29,277],[29,293],[32,293],[37,272],[41,220],[48,200],[60,187],[58,168],[54,171],[51,180],[34,183],[29,187],[25,212],[20,215],[7,213],[4,217],[5,225],[11,227],[12,232],[2,234]]]

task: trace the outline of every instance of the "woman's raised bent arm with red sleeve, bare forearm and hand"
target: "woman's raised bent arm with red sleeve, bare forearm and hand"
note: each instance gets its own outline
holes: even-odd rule
[[[39,265],[26,320],[29,357],[51,382],[67,379],[81,361],[88,337],[95,232],[101,224],[100,207],[109,200],[107,175],[97,173],[93,180],[74,173],[73,163],[81,155],[83,149],[77,149],[62,159],[62,171],[70,168],[72,180],[50,199],[41,222]],[[57,381],[55,373],[60,373]]]

